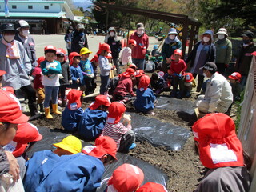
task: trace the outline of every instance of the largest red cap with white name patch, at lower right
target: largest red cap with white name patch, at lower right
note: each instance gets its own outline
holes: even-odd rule
[[[192,130],[203,166],[243,166],[242,144],[232,118],[222,113],[206,114],[194,123]]]

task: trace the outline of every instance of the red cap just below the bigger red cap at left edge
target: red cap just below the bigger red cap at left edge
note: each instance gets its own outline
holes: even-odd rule
[[[27,143],[38,142],[42,139],[42,135],[39,134],[37,126],[29,122],[18,124],[17,128],[14,137],[14,142],[17,142],[17,146],[13,151],[15,157],[19,157],[24,153]]]

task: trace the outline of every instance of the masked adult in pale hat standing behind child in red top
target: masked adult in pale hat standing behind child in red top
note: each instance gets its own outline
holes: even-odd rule
[[[174,28],[171,28],[168,32],[168,37],[165,39],[165,42],[162,46],[162,71],[167,73],[167,66],[169,64],[166,63],[166,58],[170,58],[172,54],[174,54],[174,50],[182,49],[182,42],[178,39],[178,33]]]

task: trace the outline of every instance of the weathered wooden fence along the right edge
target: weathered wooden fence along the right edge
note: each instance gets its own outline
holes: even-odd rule
[[[238,129],[238,138],[243,149],[253,159],[250,175],[252,182],[250,192],[256,191],[256,56],[253,57],[250,73],[247,78],[245,96],[242,102],[241,120]]]

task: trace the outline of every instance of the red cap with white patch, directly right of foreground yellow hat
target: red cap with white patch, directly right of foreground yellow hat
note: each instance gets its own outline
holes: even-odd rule
[[[82,153],[88,154],[95,158],[102,158],[105,154],[110,154],[114,159],[116,158],[118,146],[113,138],[108,136],[101,136],[96,138],[94,146],[85,146]]]

